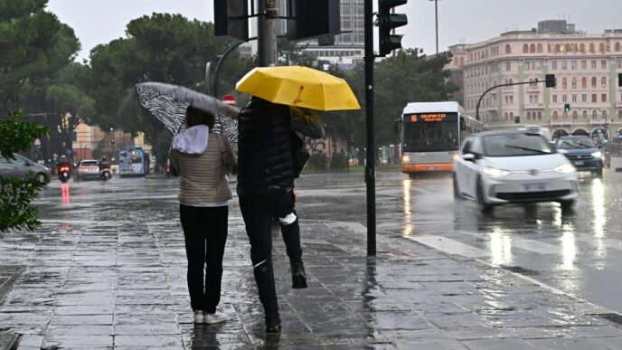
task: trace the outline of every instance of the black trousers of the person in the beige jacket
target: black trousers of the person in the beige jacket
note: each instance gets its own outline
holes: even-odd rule
[[[188,259],[190,304],[194,311],[213,314],[221,301],[222,256],[227,242],[229,207],[180,204],[179,213]]]

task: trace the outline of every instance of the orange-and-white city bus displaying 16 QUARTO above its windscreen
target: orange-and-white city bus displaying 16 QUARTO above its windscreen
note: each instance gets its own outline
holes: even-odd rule
[[[457,102],[412,102],[401,115],[401,171],[449,172],[462,140],[482,131],[482,123]]]

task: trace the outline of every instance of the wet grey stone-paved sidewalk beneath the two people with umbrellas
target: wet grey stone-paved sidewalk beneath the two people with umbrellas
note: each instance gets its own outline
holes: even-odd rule
[[[0,265],[28,267],[0,305],[0,331],[23,335],[20,349],[622,348],[622,329],[590,316],[607,310],[397,235],[379,234],[368,258],[362,225],[315,221],[301,223],[308,289],[289,288],[275,230],[283,333],[267,338],[235,208],[221,298],[230,319],[194,326],[177,213],[159,213],[0,235]]]

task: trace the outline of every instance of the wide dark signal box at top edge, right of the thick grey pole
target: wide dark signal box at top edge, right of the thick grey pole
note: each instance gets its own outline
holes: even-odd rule
[[[320,45],[332,42],[341,32],[339,0],[291,0],[287,14],[287,40],[318,38]],[[331,34],[326,38],[325,35]]]

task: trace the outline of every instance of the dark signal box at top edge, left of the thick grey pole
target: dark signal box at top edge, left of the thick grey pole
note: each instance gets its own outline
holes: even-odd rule
[[[249,41],[249,2],[214,0],[214,35]]]

